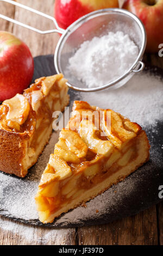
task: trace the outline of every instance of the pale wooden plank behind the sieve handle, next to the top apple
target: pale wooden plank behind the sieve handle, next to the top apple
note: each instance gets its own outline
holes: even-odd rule
[[[47,0],[46,2],[39,0],[21,0],[17,2],[26,4],[29,7],[53,16],[53,0]],[[15,8],[15,19],[26,23],[32,27],[41,29],[42,31],[55,28],[53,21],[48,20],[44,17],[40,17],[39,15],[30,13],[29,11],[21,9],[19,7]],[[18,38],[26,42],[33,54],[33,57],[51,53],[54,54],[55,47],[60,38],[57,33],[41,35],[36,32],[30,31],[27,28],[22,28],[17,25],[14,25],[13,33],[18,36]]]

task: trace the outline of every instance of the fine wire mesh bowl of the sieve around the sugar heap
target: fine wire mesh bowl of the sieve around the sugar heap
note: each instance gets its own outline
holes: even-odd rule
[[[141,60],[143,54],[142,48],[145,48],[145,36],[143,35],[145,31],[141,27],[141,22],[137,22],[138,19],[134,15],[129,14],[128,11],[120,9],[96,11],[74,22],[68,28],[68,31],[61,36],[57,50],[55,51],[55,68],[58,72],[65,75],[68,84],[73,87],[86,88],[82,81],[78,81],[76,77],[66,71],[66,67],[68,65],[68,59],[73,56],[80,45],[86,40],[91,40],[94,36],[102,36],[108,34],[108,32],[115,33],[117,31],[128,34],[130,39],[139,48],[139,56],[135,59],[131,68],[133,68],[138,60]],[[136,69],[138,69],[138,66]],[[114,88],[122,86],[133,75],[134,73],[130,73],[127,77],[124,77],[120,82],[116,83]]]

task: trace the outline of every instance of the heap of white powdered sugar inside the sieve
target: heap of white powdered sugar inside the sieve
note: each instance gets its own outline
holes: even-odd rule
[[[138,53],[138,47],[128,34],[109,32],[84,41],[69,59],[67,73],[87,87],[104,86],[126,74]]]

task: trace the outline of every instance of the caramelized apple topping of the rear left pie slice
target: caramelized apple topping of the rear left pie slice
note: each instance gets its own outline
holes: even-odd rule
[[[66,81],[62,74],[41,77],[24,90],[23,95],[16,94],[12,99],[5,100],[0,107],[0,127],[17,132],[30,132],[31,113],[36,114],[36,128],[40,126],[42,120],[44,123],[47,120],[45,125],[51,123],[52,113],[62,110],[65,106],[64,100],[60,99],[67,95]],[[42,116],[42,112],[46,113],[45,117]],[[29,120],[26,122],[27,118]]]

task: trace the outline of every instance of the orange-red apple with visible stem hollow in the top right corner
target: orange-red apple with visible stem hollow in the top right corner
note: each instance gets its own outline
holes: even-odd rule
[[[163,0],[126,0],[123,9],[137,15],[147,32],[147,52],[158,52],[163,43]]]

